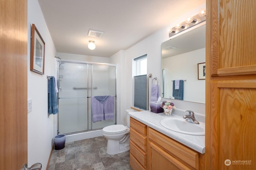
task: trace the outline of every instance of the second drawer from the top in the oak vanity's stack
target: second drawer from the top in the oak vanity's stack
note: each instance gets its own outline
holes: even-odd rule
[[[147,138],[130,127],[130,141],[135,143],[144,152],[147,150]]]

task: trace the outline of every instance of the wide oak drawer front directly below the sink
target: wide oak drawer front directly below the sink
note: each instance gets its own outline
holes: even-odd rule
[[[195,168],[199,169],[199,153],[185,147],[177,141],[159,133],[158,131],[149,128],[148,138],[151,142],[156,143],[159,147],[164,149],[166,152],[176,157],[178,160]]]

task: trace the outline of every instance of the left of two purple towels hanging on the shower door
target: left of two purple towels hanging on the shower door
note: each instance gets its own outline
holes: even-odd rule
[[[104,104],[92,97],[92,121],[104,120]]]

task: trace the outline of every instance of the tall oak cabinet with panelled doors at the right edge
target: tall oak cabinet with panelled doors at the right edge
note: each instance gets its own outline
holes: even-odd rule
[[[205,167],[256,169],[256,1],[206,0],[206,12]]]

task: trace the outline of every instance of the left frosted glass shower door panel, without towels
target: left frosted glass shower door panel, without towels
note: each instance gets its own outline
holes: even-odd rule
[[[59,62],[59,115],[61,134],[88,130],[87,64]]]

